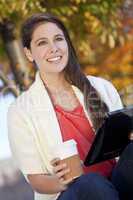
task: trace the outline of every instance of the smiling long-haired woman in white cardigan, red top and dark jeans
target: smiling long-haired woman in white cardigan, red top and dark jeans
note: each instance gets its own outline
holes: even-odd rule
[[[133,175],[122,165],[132,155],[132,144],[118,164],[108,160],[83,167],[84,175],[73,182],[63,179],[69,168],[58,164],[51,152],[55,144],[74,139],[84,161],[106,112],[122,108],[116,89],[81,72],[66,28],[51,14],[30,17],[22,27],[22,43],[38,72],[32,86],[10,106],[8,129],[13,156],[35,200],[128,199]]]

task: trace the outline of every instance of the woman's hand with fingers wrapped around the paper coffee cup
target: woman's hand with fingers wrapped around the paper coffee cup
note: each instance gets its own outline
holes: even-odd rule
[[[51,165],[53,166],[53,173],[57,177],[62,190],[66,190],[68,184],[72,181],[72,179],[65,180],[64,175],[70,172],[70,169],[67,167],[66,163],[60,163],[59,158],[55,158],[51,161]]]

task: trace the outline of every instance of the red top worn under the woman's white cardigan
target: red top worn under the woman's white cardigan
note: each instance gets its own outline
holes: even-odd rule
[[[94,132],[85,116],[83,107],[77,106],[72,111],[66,111],[55,105],[63,141],[74,139],[77,142],[80,159],[84,161],[94,139]],[[84,172],[98,172],[106,177],[110,176],[115,160],[104,161],[90,167],[84,167]]]

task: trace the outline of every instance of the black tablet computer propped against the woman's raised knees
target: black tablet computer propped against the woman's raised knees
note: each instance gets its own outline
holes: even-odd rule
[[[85,166],[120,156],[133,132],[133,105],[109,112],[97,131],[84,161]]]

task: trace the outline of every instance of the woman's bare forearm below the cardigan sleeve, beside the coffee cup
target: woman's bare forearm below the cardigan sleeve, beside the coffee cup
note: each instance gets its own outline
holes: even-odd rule
[[[33,190],[41,194],[54,194],[67,188],[54,175],[28,175],[28,179]]]

